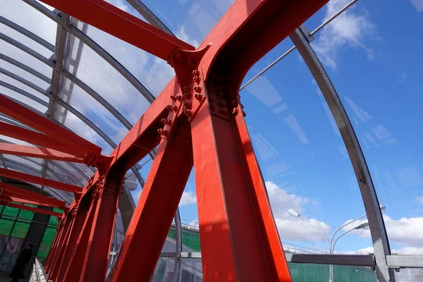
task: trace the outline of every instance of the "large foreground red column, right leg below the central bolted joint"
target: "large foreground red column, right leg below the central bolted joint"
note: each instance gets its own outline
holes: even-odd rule
[[[243,116],[213,88],[219,106],[204,103],[191,123],[203,279],[291,281]]]

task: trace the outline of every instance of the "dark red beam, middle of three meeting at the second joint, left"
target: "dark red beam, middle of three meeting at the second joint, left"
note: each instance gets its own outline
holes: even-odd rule
[[[28,130],[25,128],[20,128],[19,126],[4,123],[2,121],[0,121],[0,134],[18,140],[22,140],[34,145],[48,147],[50,149],[56,149],[60,152],[66,152],[68,154],[82,155],[83,153],[80,151],[75,151],[75,149],[71,149],[66,145],[63,145],[63,143],[55,140],[54,138],[49,137],[48,135],[37,133],[35,131]]]

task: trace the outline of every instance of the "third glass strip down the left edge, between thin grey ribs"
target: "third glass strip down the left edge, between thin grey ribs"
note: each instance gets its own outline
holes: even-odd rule
[[[8,42],[5,42],[3,40],[0,40],[0,49],[1,54],[4,54],[20,63],[23,63],[24,65],[33,68],[35,71],[46,75],[48,78],[51,78],[52,69],[45,63],[42,63],[30,54],[27,54],[25,51],[22,51],[17,47],[13,46],[12,44],[9,44]]]

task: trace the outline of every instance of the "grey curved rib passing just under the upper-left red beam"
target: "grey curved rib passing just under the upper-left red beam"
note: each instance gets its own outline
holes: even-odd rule
[[[26,4],[32,6],[40,13],[43,13],[45,16],[50,18],[51,20],[54,20],[59,25],[62,25],[61,23],[61,17],[56,15],[56,13],[50,11],[48,8],[42,6],[42,4],[39,4],[36,0],[23,0]],[[113,56],[111,56],[109,53],[107,53],[106,50],[104,50],[102,47],[99,46],[94,40],[92,40],[90,37],[85,35],[83,32],[78,30],[73,25],[64,24],[62,27],[71,35],[74,35],[78,39],[80,39],[82,42],[84,42],[88,47],[90,47],[92,50],[94,50],[99,56],[101,56],[104,60],[106,60],[111,66],[113,66],[116,71],[121,73],[126,80],[130,82],[141,94],[142,96],[147,99],[148,102],[152,103],[155,99],[155,97],[147,90],[147,88],[142,85],[140,81],[135,78],[135,76],[130,73],[124,66],[122,66],[121,63],[119,63],[116,59],[114,59]]]

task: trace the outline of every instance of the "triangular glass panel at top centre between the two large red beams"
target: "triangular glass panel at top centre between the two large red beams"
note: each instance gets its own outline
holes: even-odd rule
[[[232,0],[142,1],[176,37],[197,47],[233,3]]]

